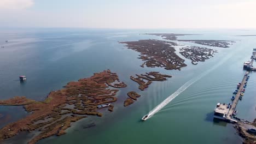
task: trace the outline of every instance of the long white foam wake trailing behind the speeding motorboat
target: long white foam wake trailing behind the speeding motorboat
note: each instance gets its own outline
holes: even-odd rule
[[[232,56],[232,53],[230,53],[229,55],[226,55],[222,61],[220,61],[219,63],[217,63],[216,65],[214,65],[212,68],[206,70],[204,73],[202,73],[201,75],[195,77],[195,79],[191,79],[188,82],[186,82],[182,87],[180,87],[179,89],[177,89],[176,92],[174,92],[173,94],[171,94],[168,98],[166,98],[164,101],[162,101],[162,103],[160,103],[158,106],[156,106],[152,111],[150,111],[147,115],[147,118],[152,117],[156,112],[160,111],[164,106],[166,106],[168,103],[170,103],[174,98],[176,98],[179,94],[181,94],[183,91],[185,91],[185,89],[187,89],[189,86],[191,86],[194,82],[200,80],[203,76],[207,75],[208,73],[210,73],[212,70],[216,69],[217,67],[219,67],[219,65],[223,64],[228,58],[230,58]]]

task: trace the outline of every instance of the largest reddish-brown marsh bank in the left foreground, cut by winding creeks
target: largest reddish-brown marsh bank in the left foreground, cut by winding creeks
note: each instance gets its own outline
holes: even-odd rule
[[[97,105],[117,100],[115,94],[118,89],[110,89],[109,86],[126,87],[125,83],[119,82],[117,74],[104,70],[89,78],[69,82],[65,88],[50,92],[44,101],[25,97],[1,100],[1,105],[24,105],[25,110],[32,114],[5,125],[0,130],[0,140],[15,136],[20,131],[39,130],[40,133],[28,142],[32,144],[49,136],[65,134],[72,122],[85,118],[86,115],[102,116],[97,111]],[[113,105],[109,110],[113,111]]]

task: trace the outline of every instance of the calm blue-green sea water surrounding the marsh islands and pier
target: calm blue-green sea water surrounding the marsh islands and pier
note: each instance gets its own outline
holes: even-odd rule
[[[161,39],[149,32],[172,32],[187,35],[179,39],[236,40],[229,49],[197,65],[186,59],[188,67],[178,70],[141,68],[139,53],[126,49],[118,41]],[[53,136],[38,143],[241,143],[231,124],[213,121],[218,102],[229,103],[232,91],[242,80],[242,64],[256,47],[255,37],[234,35],[255,34],[256,31],[202,30],[111,30],[111,29],[13,29],[0,33],[0,96],[8,99],[24,95],[44,100],[50,91],[61,89],[69,81],[89,77],[110,69],[118,73],[128,86],[118,92],[114,111],[102,110],[103,117],[91,116],[72,124],[63,136]],[[9,43],[5,43],[9,40]],[[184,45],[197,44],[182,42]],[[208,46],[205,46],[208,47]],[[178,47],[177,47],[178,50]],[[177,53],[178,54],[178,53]],[[181,56],[182,57],[182,56]],[[184,57],[183,57],[184,58]],[[131,75],[160,71],[173,77],[153,82],[139,91]],[[19,75],[27,81],[20,83]],[[200,75],[205,75],[200,77]],[[251,73],[245,97],[237,105],[237,117],[252,121],[256,117],[256,74]],[[200,77],[170,104],[146,122],[140,119],[175,92],[185,82]],[[123,106],[126,93],[136,91],[142,96],[129,107]],[[29,115],[21,106],[0,106],[0,127]],[[95,123],[96,127],[86,128]],[[37,133],[37,132],[36,132]],[[4,143],[27,143],[35,133],[21,133]],[[18,141],[19,140],[19,141]]]

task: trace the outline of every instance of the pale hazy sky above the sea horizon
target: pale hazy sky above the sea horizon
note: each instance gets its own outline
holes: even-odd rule
[[[256,28],[256,0],[0,0],[0,27]]]

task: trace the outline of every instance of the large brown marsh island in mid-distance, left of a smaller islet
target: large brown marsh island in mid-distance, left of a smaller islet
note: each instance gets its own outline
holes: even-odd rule
[[[141,55],[139,58],[145,61],[141,67],[164,67],[167,70],[178,69],[186,67],[184,59],[176,55],[173,46],[176,43],[162,41],[162,40],[138,40],[138,41],[124,41],[121,44],[127,44],[128,49],[135,50]]]

